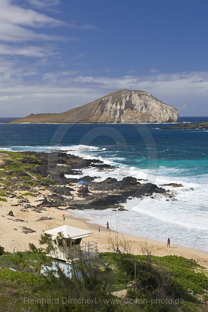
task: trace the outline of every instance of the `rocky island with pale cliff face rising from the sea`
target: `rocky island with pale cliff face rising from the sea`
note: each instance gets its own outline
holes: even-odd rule
[[[178,110],[146,91],[118,90],[65,113],[31,114],[12,122],[171,123],[178,122]]]

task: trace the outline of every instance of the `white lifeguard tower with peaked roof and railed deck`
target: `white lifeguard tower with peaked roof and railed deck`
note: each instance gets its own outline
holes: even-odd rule
[[[52,257],[52,267],[42,266],[41,273],[43,274],[48,273],[50,270],[53,270],[56,274],[61,270],[70,278],[72,275],[81,278],[81,273],[76,270],[80,262],[93,265],[93,260],[97,260],[99,257],[97,243],[82,241],[82,238],[92,234],[90,231],[63,225],[44,233],[49,235],[53,248],[50,254],[47,255]]]

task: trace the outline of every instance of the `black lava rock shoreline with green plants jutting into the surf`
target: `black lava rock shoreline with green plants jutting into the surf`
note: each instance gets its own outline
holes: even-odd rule
[[[0,192],[7,197],[18,199],[14,206],[22,206],[21,211],[40,212],[40,209],[107,209],[122,208],[122,204],[132,197],[143,198],[156,194],[176,200],[175,192],[165,190],[152,183],[140,183],[136,178],[125,177],[122,181],[110,177],[110,169],[116,167],[97,159],[84,159],[64,152],[6,152],[1,162]],[[95,182],[98,177],[85,176],[88,188],[75,189],[77,178],[65,178],[65,174],[81,175],[84,168],[109,170],[109,178]],[[181,185],[180,185],[181,186]],[[173,186],[174,187],[174,186]],[[31,205],[25,196],[38,197],[47,192],[47,198]],[[18,195],[17,196],[17,192]],[[24,193],[23,193],[24,192]],[[75,199],[73,199],[75,195]],[[2,196],[3,197],[3,196]],[[120,209],[121,210],[121,209]],[[117,211],[117,210],[116,210]]]

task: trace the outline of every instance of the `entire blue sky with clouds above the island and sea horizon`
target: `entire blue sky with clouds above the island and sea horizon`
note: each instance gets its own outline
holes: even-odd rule
[[[118,89],[208,116],[207,1],[0,1],[1,117],[59,113]]]

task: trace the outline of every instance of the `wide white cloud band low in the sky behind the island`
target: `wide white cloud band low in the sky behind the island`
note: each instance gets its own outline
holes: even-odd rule
[[[59,71],[45,73],[42,81],[36,80],[35,74],[33,68],[0,58],[0,94],[1,103],[5,104],[2,105],[2,116],[63,112],[118,89],[147,91],[177,107],[183,115],[208,114],[208,72],[111,78],[77,76],[77,71]]]

